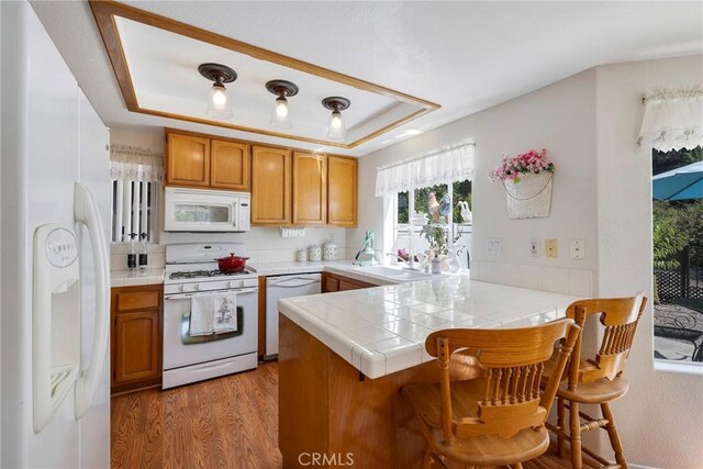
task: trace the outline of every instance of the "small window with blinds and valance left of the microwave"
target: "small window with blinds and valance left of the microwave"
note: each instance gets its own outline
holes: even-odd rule
[[[112,144],[110,178],[112,179],[113,243],[158,239],[158,194],[164,182],[164,157],[150,149]]]

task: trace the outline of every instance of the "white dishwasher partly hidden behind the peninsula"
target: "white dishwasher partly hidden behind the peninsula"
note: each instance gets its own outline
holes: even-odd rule
[[[266,359],[278,355],[278,300],[321,292],[320,273],[292,273],[266,279]]]

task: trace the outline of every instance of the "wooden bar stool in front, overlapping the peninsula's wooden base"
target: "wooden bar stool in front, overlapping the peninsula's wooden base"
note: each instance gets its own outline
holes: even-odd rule
[[[444,467],[448,459],[465,466],[522,468],[523,461],[544,454],[549,447],[544,424],[561,376],[555,375],[540,393],[544,364],[554,355],[555,370],[563,371],[578,336],[579,326],[566,319],[535,327],[431,334],[425,348],[437,357],[439,383],[401,390],[426,439],[422,467]],[[455,351],[462,359],[476,357],[481,376],[451,382]]]

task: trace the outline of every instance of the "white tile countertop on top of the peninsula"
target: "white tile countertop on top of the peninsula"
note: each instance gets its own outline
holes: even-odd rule
[[[369,378],[425,361],[433,331],[524,327],[563,317],[578,300],[560,293],[442,278],[279,300],[281,314]]]

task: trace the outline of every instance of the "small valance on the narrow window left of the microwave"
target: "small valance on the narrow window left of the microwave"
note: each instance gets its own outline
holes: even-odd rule
[[[122,181],[164,181],[164,155],[148,148],[110,145],[110,177]]]

